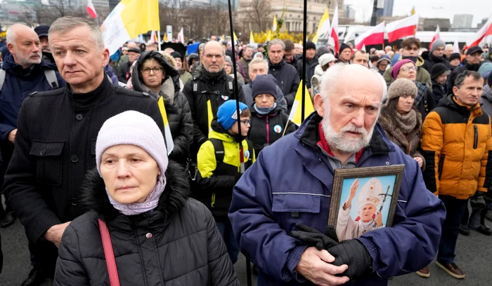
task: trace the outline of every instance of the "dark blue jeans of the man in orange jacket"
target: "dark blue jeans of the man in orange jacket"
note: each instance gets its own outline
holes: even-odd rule
[[[440,264],[450,264],[455,262],[456,242],[460,233],[460,224],[468,200],[459,200],[453,196],[439,196],[446,207],[446,219],[442,226],[441,241],[439,242],[439,252],[437,261]]]

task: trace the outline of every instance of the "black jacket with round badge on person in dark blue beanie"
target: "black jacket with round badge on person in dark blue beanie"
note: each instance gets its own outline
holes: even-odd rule
[[[284,135],[289,116],[282,111],[279,105],[267,115],[259,114],[254,107],[251,108],[251,126],[248,138],[253,144],[254,154],[258,157],[259,152]],[[290,122],[285,130],[285,135],[297,130],[297,125]]]

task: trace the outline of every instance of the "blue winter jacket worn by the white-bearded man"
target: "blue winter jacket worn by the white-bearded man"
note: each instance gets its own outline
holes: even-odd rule
[[[301,285],[297,266],[306,246],[289,236],[294,225],[324,232],[333,170],[318,147],[321,116],[313,113],[297,132],[266,147],[233,191],[229,218],[240,250],[260,269],[258,285]],[[359,240],[373,258],[373,273],[351,285],[387,285],[387,277],[417,271],[436,255],[444,204],[425,187],[417,162],[377,125],[357,167],[404,164],[394,226]],[[299,243],[299,242],[298,242]]]

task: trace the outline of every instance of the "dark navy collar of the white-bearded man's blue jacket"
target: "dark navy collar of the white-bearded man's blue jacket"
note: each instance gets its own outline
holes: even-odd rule
[[[318,142],[321,141],[318,128],[322,119],[323,117],[319,116],[318,113],[314,111],[306,118],[306,120],[304,120],[299,130],[294,133],[294,136],[304,144],[316,148]],[[369,145],[364,149],[364,151],[367,150],[371,151],[373,154],[387,154],[390,151],[395,150],[392,145],[389,145],[389,139],[384,134],[379,123],[375,126],[373,137],[371,137]]]

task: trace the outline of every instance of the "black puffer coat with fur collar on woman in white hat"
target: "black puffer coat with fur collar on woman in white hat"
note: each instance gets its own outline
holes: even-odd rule
[[[54,285],[110,285],[98,218],[108,225],[121,285],[239,285],[212,214],[188,198],[183,168],[170,161],[166,178],[155,210],[127,216],[89,172],[83,189],[91,211],[63,233]]]

